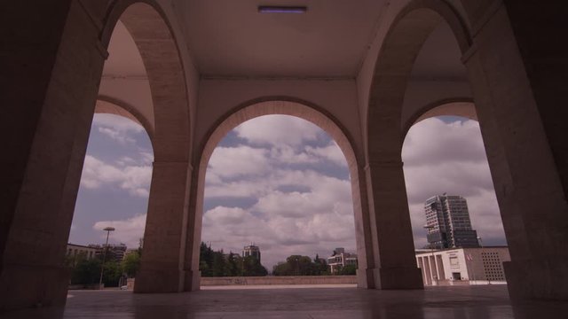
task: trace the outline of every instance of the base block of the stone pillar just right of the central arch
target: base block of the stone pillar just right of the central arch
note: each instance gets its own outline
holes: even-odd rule
[[[373,270],[376,289],[424,289],[420,268],[393,267]]]

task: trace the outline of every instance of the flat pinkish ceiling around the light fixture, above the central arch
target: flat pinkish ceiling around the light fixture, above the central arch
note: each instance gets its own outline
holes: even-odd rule
[[[375,36],[383,0],[176,2],[204,76],[354,77]],[[258,5],[306,5],[301,14]]]

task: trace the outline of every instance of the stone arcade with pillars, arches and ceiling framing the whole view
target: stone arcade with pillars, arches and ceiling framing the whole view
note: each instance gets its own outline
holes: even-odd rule
[[[3,5],[0,310],[66,302],[94,113],[138,121],[154,147],[135,292],[199,289],[209,157],[227,132],[265,114],[312,121],[343,151],[359,287],[422,289],[401,147],[415,122],[459,115],[481,127],[510,297],[568,300],[564,2],[330,0],[324,10],[306,0],[296,13],[260,4]]]

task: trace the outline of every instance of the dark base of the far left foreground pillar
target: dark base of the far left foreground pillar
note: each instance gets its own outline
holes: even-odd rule
[[[4,264],[0,312],[28,307],[64,307],[71,272],[48,265]]]

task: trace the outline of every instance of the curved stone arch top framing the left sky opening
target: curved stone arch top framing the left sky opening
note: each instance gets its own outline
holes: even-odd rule
[[[150,137],[150,142],[154,139],[154,128],[150,121],[142,113],[138,112],[136,107],[118,98],[99,95],[95,105],[95,113],[114,114],[127,118],[130,121],[135,121],[146,130]]]

